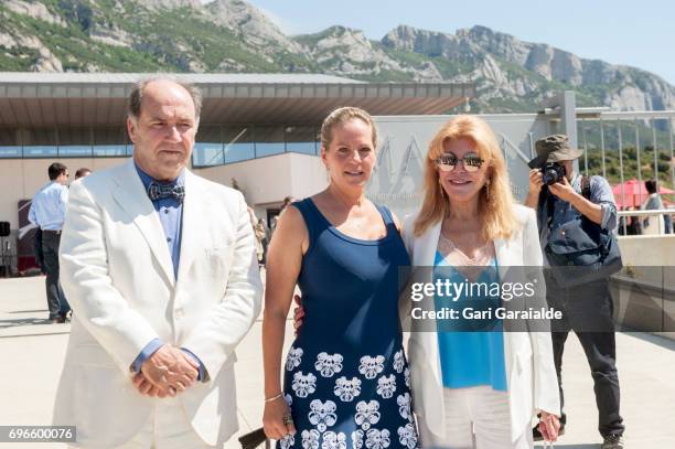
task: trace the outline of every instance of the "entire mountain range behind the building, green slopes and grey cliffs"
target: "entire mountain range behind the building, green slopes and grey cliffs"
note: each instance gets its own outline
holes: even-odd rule
[[[3,0],[0,71],[298,72],[366,81],[475,82],[475,109],[532,111],[561,89],[581,106],[673,109],[675,87],[484,26],[400,25],[381,41],[332,26],[286,35],[243,0]]]

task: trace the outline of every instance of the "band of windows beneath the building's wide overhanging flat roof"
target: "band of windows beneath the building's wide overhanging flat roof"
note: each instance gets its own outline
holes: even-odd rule
[[[203,125],[193,167],[214,167],[286,152],[319,154],[319,127]],[[0,159],[119,158],[131,156],[126,127],[0,129]]]

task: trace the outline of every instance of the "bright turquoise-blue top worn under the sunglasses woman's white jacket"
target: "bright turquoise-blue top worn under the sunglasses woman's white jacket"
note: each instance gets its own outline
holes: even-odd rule
[[[437,250],[435,267],[442,267],[441,270],[435,269],[438,274],[442,272],[442,278],[449,278],[452,284],[465,281],[465,277],[449,266],[443,256]],[[438,275],[437,275],[438,276]],[[435,279],[436,281],[436,279]],[[499,282],[496,258],[494,265],[485,267],[475,282],[491,285]],[[474,301],[474,304],[471,302]],[[473,307],[475,310],[491,308],[494,316],[495,308],[500,307],[497,297],[461,297],[456,302],[448,303],[440,298],[436,298],[436,308],[451,307],[459,310]],[[441,376],[446,388],[468,388],[479,385],[489,385],[493,389],[505,392],[506,368],[504,362],[504,333],[502,323],[495,327],[497,330],[492,332],[467,331],[471,327],[471,320],[460,321],[458,331],[438,332],[438,349],[441,364]]]

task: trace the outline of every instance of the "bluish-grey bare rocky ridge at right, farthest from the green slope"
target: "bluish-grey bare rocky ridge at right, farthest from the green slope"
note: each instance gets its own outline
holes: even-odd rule
[[[469,70],[459,78],[478,81],[484,100],[508,97],[540,98],[546,87],[577,90],[582,103],[613,109],[669,109],[675,88],[647,72],[585,60],[546,44],[523,42],[485,26],[457,34],[398,26],[383,44],[427,56],[462,61]],[[544,89],[543,89],[544,87]]]

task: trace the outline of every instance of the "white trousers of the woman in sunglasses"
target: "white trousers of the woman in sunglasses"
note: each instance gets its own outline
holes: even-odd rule
[[[435,449],[532,449],[529,426],[511,441],[508,393],[490,386],[443,388],[446,438],[432,434],[418,417],[422,448]]]

